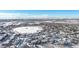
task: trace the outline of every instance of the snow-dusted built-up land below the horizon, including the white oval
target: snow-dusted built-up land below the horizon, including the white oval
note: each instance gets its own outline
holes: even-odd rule
[[[0,48],[79,48],[79,21],[0,22]]]

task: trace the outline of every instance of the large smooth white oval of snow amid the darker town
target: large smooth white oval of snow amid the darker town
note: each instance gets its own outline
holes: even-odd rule
[[[15,33],[20,33],[20,34],[37,33],[40,32],[41,30],[42,30],[41,26],[26,26],[26,27],[17,27],[13,29]]]

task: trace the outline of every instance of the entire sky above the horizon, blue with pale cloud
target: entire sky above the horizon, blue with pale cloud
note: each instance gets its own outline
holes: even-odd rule
[[[79,10],[0,10],[0,19],[79,18]]]

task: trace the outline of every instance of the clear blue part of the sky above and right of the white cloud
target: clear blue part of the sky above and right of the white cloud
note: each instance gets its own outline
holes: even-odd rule
[[[7,14],[28,14],[28,15],[47,15],[52,17],[73,17],[79,18],[79,10],[0,10],[0,13]],[[0,16],[3,16],[1,15]]]

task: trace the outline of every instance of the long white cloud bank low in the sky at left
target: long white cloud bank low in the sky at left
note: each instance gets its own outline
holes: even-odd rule
[[[0,13],[0,19],[31,19],[31,18],[48,18],[47,14],[33,15],[25,13]]]

